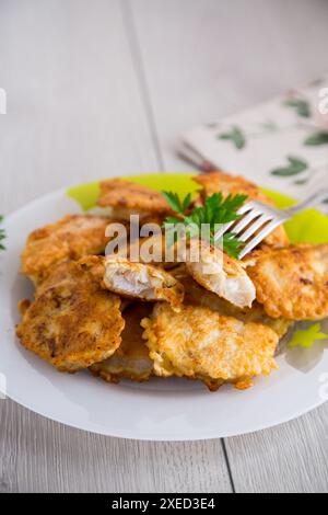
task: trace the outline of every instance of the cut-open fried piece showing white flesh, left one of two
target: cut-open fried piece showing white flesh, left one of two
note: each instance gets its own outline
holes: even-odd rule
[[[184,287],[164,270],[144,263],[133,263],[117,255],[91,256],[81,261],[98,278],[103,287],[122,297],[147,301],[166,300],[178,309],[184,300]]]

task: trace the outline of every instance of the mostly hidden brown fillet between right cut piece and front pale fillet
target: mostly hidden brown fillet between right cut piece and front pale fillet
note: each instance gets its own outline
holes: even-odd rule
[[[269,317],[263,306],[259,302],[253,302],[251,308],[238,308],[218,295],[209,291],[208,289],[200,286],[187,272],[185,264],[180,264],[176,268],[171,271],[172,275],[176,277],[185,288],[185,305],[190,306],[202,306],[209,308],[212,311],[218,311],[224,317],[234,317],[243,322],[257,322],[263,325],[268,325],[273,329],[278,336],[281,339],[291,328],[293,322],[286,320],[283,317],[271,318]]]

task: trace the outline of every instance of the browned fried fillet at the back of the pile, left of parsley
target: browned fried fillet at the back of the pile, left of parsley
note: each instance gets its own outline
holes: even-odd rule
[[[115,208],[115,215],[119,214],[124,218],[131,213],[165,215],[171,211],[160,192],[121,179],[101,182],[97,204],[101,207]]]

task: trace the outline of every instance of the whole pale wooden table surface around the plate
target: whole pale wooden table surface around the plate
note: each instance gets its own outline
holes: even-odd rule
[[[1,213],[84,180],[190,170],[181,131],[327,71],[327,22],[325,0],[0,0]],[[327,426],[326,403],[248,436],[143,443],[3,400],[0,491],[327,492]]]

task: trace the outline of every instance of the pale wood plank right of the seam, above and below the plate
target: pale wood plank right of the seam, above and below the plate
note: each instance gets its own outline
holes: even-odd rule
[[[321,0],[133,0],[132,20],[166,170],[179,135],[326,71]],[[302,392],[300,392],[302,394]],[[237,491],[326,491],[328,407],[226,442]]]

